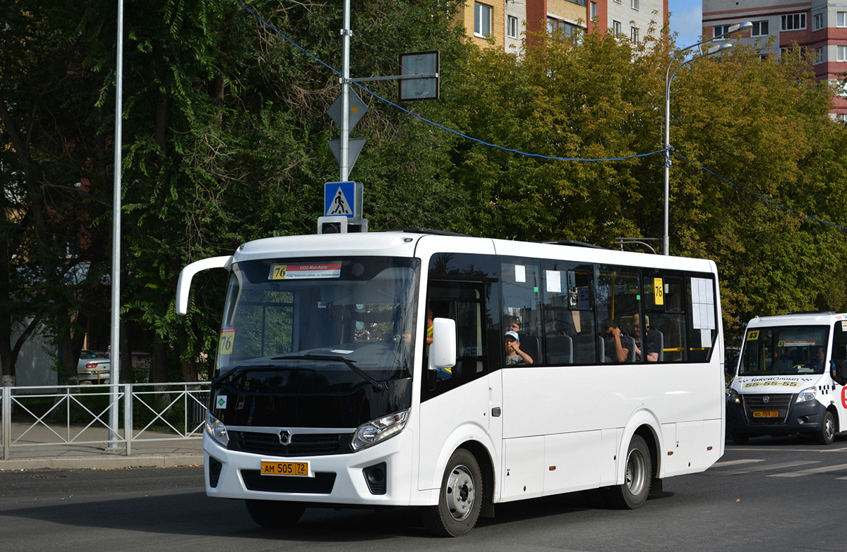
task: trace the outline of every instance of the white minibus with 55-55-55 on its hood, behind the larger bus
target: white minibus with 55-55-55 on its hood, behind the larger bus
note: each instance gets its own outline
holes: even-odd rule
[[[735,444],[798,433],[832,444],[847,423],[847,314],[755,317],[728,389]]]

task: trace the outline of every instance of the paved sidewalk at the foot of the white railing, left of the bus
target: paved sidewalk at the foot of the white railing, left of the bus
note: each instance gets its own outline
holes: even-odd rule
[[[8,458],[0,459],[0,471],[38,469],[115,469],[123,467],[202,466],[203,444],[197,439],[181,439],[163,434],[159,441],[134,440],[130,455],[126,444],[117,442],[108,448],[108,429],[53,427],[67,440],[102,441],[93,444],[60,444],[62,438],[39,424],[27,431],[29,424],[13,422]],[[24,434],[24,432],[26,432]],[[156,439],[156,433],[145,432],[142,439]],[[0,455],[3,449],[0,447]]]

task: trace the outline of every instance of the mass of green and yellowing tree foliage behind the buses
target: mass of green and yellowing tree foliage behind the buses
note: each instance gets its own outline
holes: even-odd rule
[[[105,0],[43,4],[14,0],[0,31],[7,376],[27,323],[47,323],[72,374],[83,337],[102,334],[108,315],[116,13]],[[553,34],[517,58],[469,44],[455,3],[354,8],[352,76],[396,75],[401,52],[441,57],[438,102],[398,108],[395,82],[354,87],[369,111],[352,131],[367,140],[352,178],[365,185],[371,229],[607,247],[662,235],[672,38]],[[314,231],[323,183],[338,179],[326,143],[338,129],[324,111],[340,91],[341,10],[125,0],[121,349],[151,351],[152,380],[196,379],[214,349],[223,273],[198,279],[178,318],[185,263]],[[837,276],[847,140],[827,116],[831,92],[800,52],[735,50],[672,82],[671,251],[717,262],[730,328],[756,314],[847,310]],[[69,279],[80,262],[85,278]]]

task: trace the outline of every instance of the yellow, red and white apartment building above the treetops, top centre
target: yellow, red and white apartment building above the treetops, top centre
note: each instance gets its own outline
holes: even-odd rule
[[[519,55],[525,33],[545,29],[567,35],[609,29],[644,40],[651,24],[659,29],[667,19],[667,0],[468,0],[458,17],[480,47],[493,40]]]

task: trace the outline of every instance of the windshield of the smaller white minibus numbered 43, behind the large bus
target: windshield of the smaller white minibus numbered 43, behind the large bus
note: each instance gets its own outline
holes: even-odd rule
[[[739,376],[823,373],[828,339],[828,326],[750,328]]]

